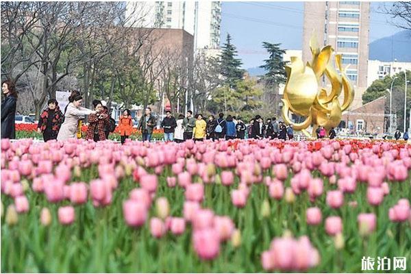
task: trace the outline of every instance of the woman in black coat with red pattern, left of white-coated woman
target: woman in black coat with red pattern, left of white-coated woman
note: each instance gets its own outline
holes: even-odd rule
[[[37,125],[37,132],[42,134],[45,142],[57,139],[58,132],[64,120],[64,115],[56,99],[49,99],[47,105],[47,109],[43,110],[40,114]]]

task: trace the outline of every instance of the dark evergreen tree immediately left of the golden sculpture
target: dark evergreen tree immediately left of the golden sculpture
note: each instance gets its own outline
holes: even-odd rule
[[[260,68],[265,69],[266,74],[262,77],[265,80],[266,86],[278,86],[286,82],[286,62],[283,61],[283,55],[286,53],[284,49],[280,49],[281,44],[271,44],[262,42],[262,47],[270,54],[269,59],[264,60]]]

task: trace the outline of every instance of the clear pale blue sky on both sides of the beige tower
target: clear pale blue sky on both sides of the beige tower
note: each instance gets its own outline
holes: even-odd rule
[[[403,30],[388,23],[389,16],[377,12],[383,4],[371,2],[369,42]],[[221,45],[229,33],[244,69],[260,66],[268,57],[262,42],[280,42],[283,49],[301,49],[303,2],[223,1],[221,10]]]

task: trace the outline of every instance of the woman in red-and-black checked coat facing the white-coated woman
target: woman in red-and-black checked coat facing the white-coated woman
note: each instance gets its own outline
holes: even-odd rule
[[[92,100],[92,105],[95,108],[95,113],[88,116],[86,139],[95,142],[103,141],[105,140],[104,127],[110,123],[110,118],[100,100]]]

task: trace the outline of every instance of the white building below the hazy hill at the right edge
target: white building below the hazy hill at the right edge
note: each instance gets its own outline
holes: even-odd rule
[[[387,75],[393,77],[401,71],[411,71],[411,62],[382,62],[379,60],[369,60],[367,86],[371,86],[375,80],[383,79]]]

